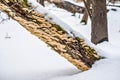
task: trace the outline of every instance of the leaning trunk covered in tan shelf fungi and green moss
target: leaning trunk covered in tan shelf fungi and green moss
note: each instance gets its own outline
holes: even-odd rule
[[[0,3],[0,10],[82,71],[90,69],[92,64],[101,58],[93,48],[85,44],[84,40],[69,36],[59,25],[48,22],[38,12],[23,8],[20,4],[9,6],[9,2],[7,5]]]

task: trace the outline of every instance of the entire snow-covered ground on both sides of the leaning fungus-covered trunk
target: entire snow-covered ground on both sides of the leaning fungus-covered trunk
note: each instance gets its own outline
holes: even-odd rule
[[[86,26],[81,25],[78,14],[74,17],[52,6],[44,9],[35,2],[33,5],[43,14],[49,12],[48,16],[54,22],[69,33],[73,31],[85,39],[106,59],[96,62],[90,70],[81,72],[10,19],[0,24],[0,80],[120,80],[119,8],[115,8],[117,12],[110,10],[108,13],[109,42],[93,45],[90,43],[90,21]]]

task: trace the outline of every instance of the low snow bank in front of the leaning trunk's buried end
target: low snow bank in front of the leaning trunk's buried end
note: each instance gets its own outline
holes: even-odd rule
[[[120,64],[118,60],[101,60],[89,71],[50,80],[119,80],[119,67]]]

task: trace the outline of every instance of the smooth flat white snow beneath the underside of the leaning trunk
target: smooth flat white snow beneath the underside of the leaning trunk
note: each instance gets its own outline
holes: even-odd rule
[[[78,72],[16,21],[0,24],[0,80],[47,80]]]

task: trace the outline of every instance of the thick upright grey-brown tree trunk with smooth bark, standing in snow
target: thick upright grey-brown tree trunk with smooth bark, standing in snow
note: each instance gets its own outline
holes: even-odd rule
[[[108,41],[106,0],[94,0],[92,6],[91,41],[94,44]]]

